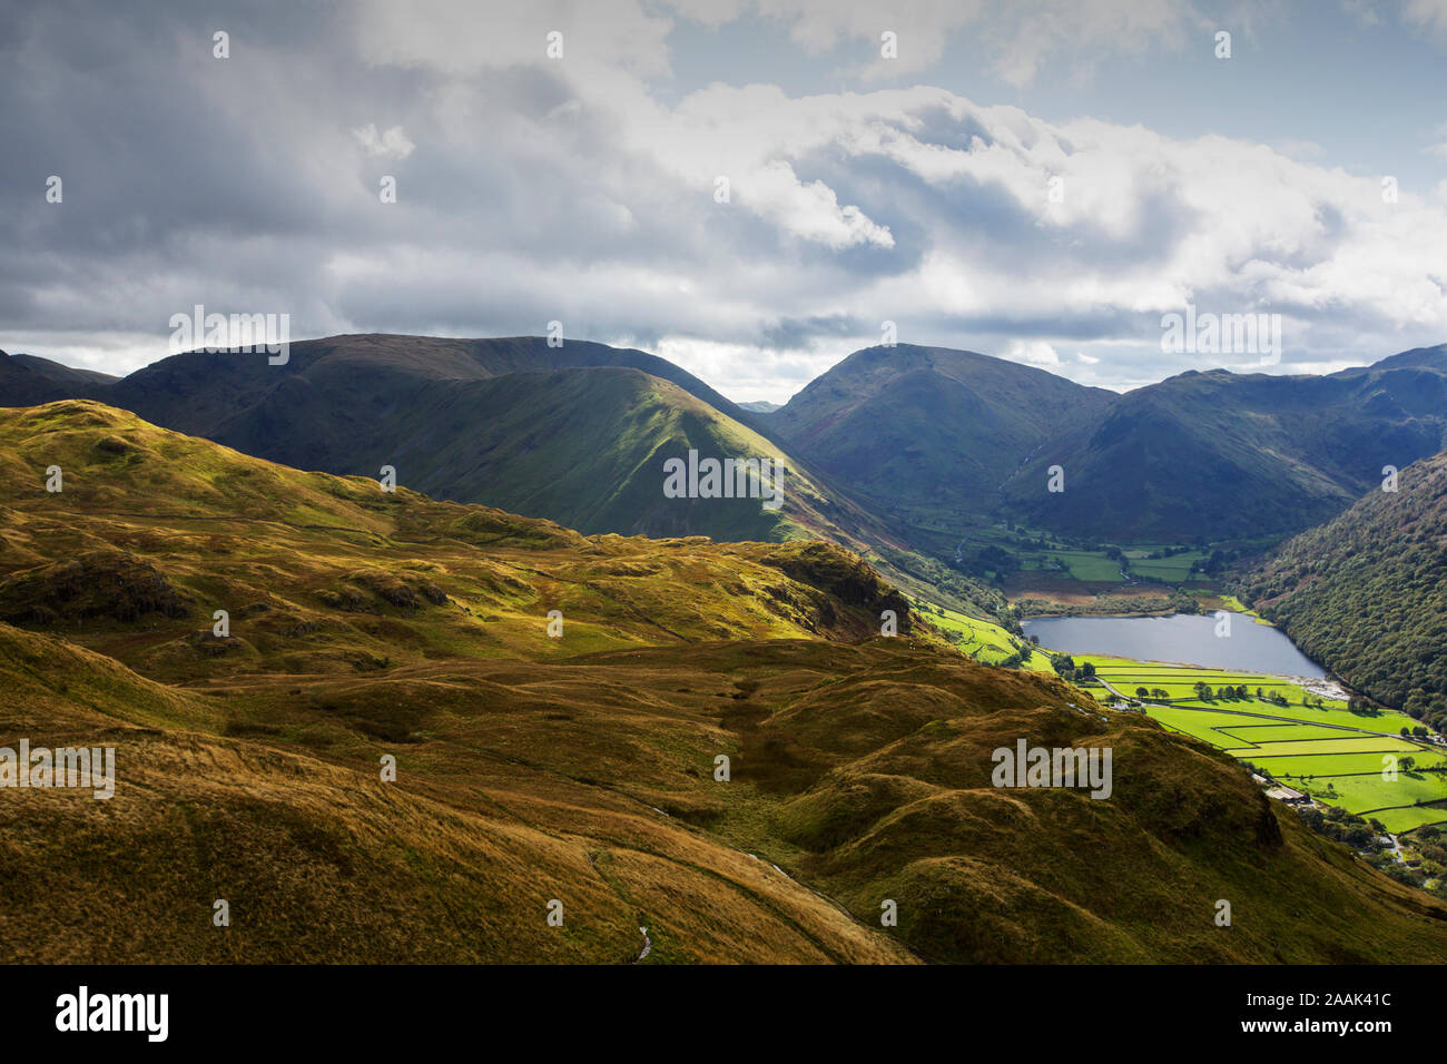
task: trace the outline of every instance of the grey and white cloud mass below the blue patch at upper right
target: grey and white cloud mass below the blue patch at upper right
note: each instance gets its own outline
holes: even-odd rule
[[[1194,17],[1123,9],[1106,25],[1153,17],[1156,39]],[[725,394],[742,381],[742,398],[783,400],[878,343],[884,320],[901,343],[1108,385],[1191,368],[1159,350],[1162,313],[1187,303],[1282,314],[1282,369],[1447,332],[1447,182],[1404,182],[1388,204],[1379,177],[1295,149],[1052,122],[930,85],[657,91],[670,25],[757,4],[508,19],[434,1],[404,19],[414,9],[262,0],[229,10],[224,62],[162,10],[77,22],[33,7],[0,45],[7,153],[29,161],[0,169],[7,350],[25,337],[43,355],[49,336],[68,358],[132,368],[137,337],[159,358],[169,316],[195,303],[291,313],[297,337],[561,320],[673,352]],[[768,17],[828,51],[871,16]],[[564,59],[543,55],[550,25]],[[126,75],[87,77],[98,62]],[[378,182],[402,158],[383,204]],[[45,201],[48,174],[64,175],[64,204]]]

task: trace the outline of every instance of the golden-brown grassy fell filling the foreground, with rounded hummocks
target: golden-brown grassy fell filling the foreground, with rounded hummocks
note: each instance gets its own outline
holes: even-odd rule
[[[0,744],[117,766],[0,802],[16,960],[1447,961],[1447,906],[1229,757],[829,544],[587,537],[87,401],[0,411]],[[1111,796],[993,786],[1022,738],[1110,747]]]

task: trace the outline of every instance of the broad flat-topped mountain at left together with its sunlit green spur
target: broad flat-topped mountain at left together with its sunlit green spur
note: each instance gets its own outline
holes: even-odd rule
[[[39,402],[56,387],[14,394]],[[998,595],[920,557],[896,527],[750,427],[755,415],[644,352],[538,337],[339,336],[292,345],[276,366],[262,353],[177,355],[101,395],[273,462],[363,476],[392,466],[433,497],[585,533],[839,543],[913,594],[983,615],[1000,608]],[[664,463],[690,450],[781,462],[781,507],[666,497]]]

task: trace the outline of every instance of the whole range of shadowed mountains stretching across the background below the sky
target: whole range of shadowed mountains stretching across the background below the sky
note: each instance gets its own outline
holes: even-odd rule
[[[585,533],[825,539],[920,586],[984,520],[1113,543],[1282,539],[1383,466],[1447,447],[1447,346],[1325,376],[1189,371],[1116,395],[900,345],[745,410],[640,350],[365,334],[295,343],[285,366],[190,352],[122,379],[16,355],[0,359],[0,395],[97,398],[298,468],[391,465],[434,497]],[[783,508],[666,498],[663,463],[690,449],[780,459]],[[1064,491],[1049,489],[1056,466]]]

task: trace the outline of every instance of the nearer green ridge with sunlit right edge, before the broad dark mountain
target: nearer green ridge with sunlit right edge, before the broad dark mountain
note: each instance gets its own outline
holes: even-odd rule
[[[389,389],[385,410],[317,401],[328,378],[291,378],[216,439],[276,462],[331,472],[391,465],[412,488],[557,520],[585,533],[844,541],[846,514],[776,444],[682,388],[638,369],[522,372]],[[676,499],[664,462],[768,457],[787,468],[781,507],[760,498]]]

